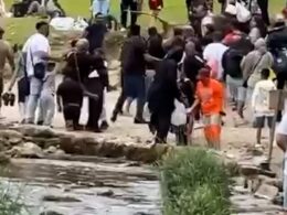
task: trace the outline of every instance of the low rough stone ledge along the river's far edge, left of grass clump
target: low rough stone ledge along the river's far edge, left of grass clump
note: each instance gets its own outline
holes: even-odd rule
[[[0,130],[0,149],[15,158],[44,158],[46,154],[81,154],[125,158],[151,163],[169,150],[168,146],[134,143],[129,139],[89,132],[56,131],[38,126],[11,126]]]

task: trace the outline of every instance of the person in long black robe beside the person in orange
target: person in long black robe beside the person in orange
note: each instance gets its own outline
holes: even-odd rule
[[[181,100],[177,84],[178,63],[183,55],[181,46],[173,46],[159,63],[155,80],[148,93],[148,108],[150,110],[149,128],[156,133],[156,143],[167,143],[171,127],[171,115],[174,110],[174,99]]]

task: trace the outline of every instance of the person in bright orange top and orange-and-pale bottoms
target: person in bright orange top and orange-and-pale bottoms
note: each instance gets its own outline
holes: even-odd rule
[[[199,82],[195,93],[195,101],[191,111],[200,105],[203,116],[204,136],[210,148],[220,149],[221,116],[224,106],[224,89],[220,82],[211,78],[210,68],[199,72]]]

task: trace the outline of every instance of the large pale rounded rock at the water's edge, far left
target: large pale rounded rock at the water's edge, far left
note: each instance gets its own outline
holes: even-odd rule
[[[43,158],[42,149],[33,142],[25,142],[22,146],[13,147],[10,154],[15,158]]]

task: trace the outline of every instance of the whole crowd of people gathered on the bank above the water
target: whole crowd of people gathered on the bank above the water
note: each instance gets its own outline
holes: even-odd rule
[[[259,144],[265,121],[270,128],[275,116],[268,105],[269,92],[283,89],[287,78],[285,18],[277,17],[268,30],[269,21],[263,13],[242,22],[224,10],[220,15],[213,14],[211,2],[194,2],[187,1],[192,21],[189,31],[176,28],[171,37],[163,37],[151,26],[145,37],[134,13],[139,10],[139,1],[121,1],[121,26],[128,30],[119,60],[121,93],[110,120],[130,115],[130,105],[137,100],[134,122],[148,123],[156,143],[166,143],[172,131],[178,143],[187,144],[194,121],[202,121],[209,147],[220,149],[223,117],[231,106],[240,120],[247,119],[257,128]],[[158,15],[163,2],[149,3],[152,15]],[[92,6],[94,19],[89,26],[59,58],[51,55],[50,26],[44,21],[36,23],[36,33],[22,47],[14,50],[3,40],[3,29],[0,30],[0,68],[8,60],[14,71],[2,97],[4,103],[13,99],[11,92],[18,83],[21,122],[52,126],[57,107],[70,130],[102,132],[108,128],[105,99],[110,85],[103,45],[108,32],[104,17],[109,1],[94,0]],[[129,28],[127,8],[131,10]],[[59,86],[57,62],[65,62]],[[1,76],[1,93],[2,82]],[[184,112],[177,112],[184,115],[181,125],[172,121],[179,106],[184,106]],[[246,117],[246,108],[252,110],[252,119]],[[145,109],[150,114],[148,120]]]

